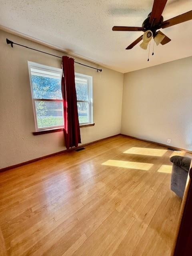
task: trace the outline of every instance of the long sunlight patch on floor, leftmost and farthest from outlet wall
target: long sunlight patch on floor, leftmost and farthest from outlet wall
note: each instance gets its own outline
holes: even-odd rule
[[[116,167],[123,167],[123,168],[130,168],[130,169],[139,169],[148,171],[153,164],[148,163],[140,163],[140,162],[129,162],[129,161],[121,161],[121,160],[108,160],[102,165],[109,165],[109,166],[116,166]]]

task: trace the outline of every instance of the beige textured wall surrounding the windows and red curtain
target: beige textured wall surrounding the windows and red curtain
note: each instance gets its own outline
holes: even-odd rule
[[[61,67],[61,60],[20,46],[6,38],[55,55],[62,52],[0,30],[0,168],[65,149],[63,132],[34,136],[34,114],[27,61]],[[75,58],[98,68],[98,65]],[[101,68],[101,67],[99,67]],[[75,64],[75,72],[93,76],[93,121],[81,128],[82,143],[120,133],[123,74],[102,67],[102,73]]]

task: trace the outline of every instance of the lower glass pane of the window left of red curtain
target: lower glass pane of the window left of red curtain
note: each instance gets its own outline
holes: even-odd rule
[[[38,128],[62,126],[63,103],[52,101],[35,101]]]

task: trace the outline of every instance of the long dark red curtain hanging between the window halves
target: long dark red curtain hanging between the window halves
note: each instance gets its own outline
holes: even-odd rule
[[[81,143],[73,58],[62,57],[62,72],[64,137],[66,148],[69,149]]]

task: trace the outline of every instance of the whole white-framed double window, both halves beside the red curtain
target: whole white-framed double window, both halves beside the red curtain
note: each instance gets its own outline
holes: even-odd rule
[[[30,84],[36,131],[62,128],[62,69],[29,62]],[[92,123],[92,76],[75,73],[80,124]]]

